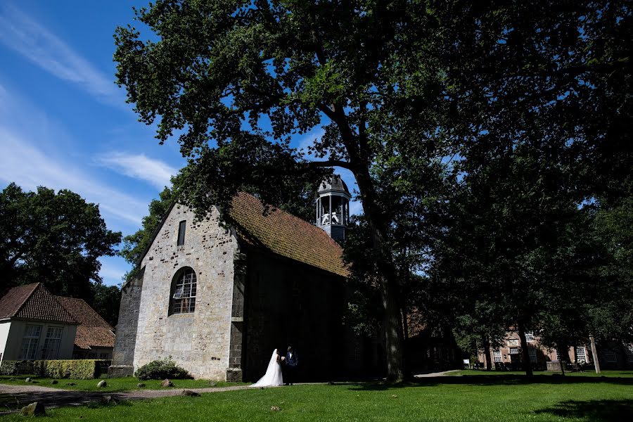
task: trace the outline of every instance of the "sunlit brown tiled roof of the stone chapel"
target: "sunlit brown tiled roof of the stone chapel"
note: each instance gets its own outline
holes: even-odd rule
[[[340,245],[319,227],[279,208],[266,207],[248,193],[235,196],[229,218],[243,240],[291,260],[348,276]]]

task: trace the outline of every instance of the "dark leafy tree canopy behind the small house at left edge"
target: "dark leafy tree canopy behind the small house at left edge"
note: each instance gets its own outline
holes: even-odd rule
[[[9,184],[0,193],[0,271],[13,286],[40,282],[56,295],[92,303],[101,283],[99,257],[112,256],[120,232],[106,227],[99,207],[77,193]]]

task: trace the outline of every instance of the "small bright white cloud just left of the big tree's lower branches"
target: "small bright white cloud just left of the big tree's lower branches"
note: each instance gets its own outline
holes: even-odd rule
[[[171,177],[178,172],[165,162],[148,158],[144,154],[112,152],[98,155],[96,162],[128,177],[148,181],[159,189],[170,186]]]

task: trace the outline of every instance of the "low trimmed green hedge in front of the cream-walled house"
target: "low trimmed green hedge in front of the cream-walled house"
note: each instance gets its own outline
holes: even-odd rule
[[[3,361],[0,375],[25,373],[45,378],[91,379],[101,376],[103,359]]]

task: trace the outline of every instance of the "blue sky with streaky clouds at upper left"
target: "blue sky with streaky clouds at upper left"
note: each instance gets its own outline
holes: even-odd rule
[[[148,203],[185,164],[177,142],[160,146],[114,84],[115,27],[146,4],[0,2],[0,188],[11,181],[27,190],[69,188],[99,204],[108,228],[139,229]],[[352,188],[351,174],[343,177]],[[129,269],[120,257],[102,264],[107,284]]]

